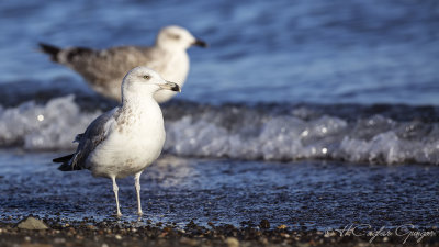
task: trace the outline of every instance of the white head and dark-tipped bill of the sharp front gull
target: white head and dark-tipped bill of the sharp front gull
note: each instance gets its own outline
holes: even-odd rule
[[[122,100],[153,97],[159,90],[180,92],[180,86],[165,80],[153,69],[140,66],[130,70],[122,81]]]

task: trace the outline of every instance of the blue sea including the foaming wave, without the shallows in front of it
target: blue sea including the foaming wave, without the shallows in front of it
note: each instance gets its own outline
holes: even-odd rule
[[[164,106],[167,153],[439,164],[436,0],[2,1],[0,23],[1,147],[72,150],[111,106],[38,42],[150,45],[178,24],[211,46]]]

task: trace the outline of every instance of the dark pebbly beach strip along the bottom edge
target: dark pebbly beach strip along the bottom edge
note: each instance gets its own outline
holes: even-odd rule
[[[36,220],[40,221],[40,220]],[[236,227],[229,224],[183,227],[176,223],[78,221],[42,218],[47,229],[23,229],[18,223],[0,221],[0,246],[439,246],[437,227],[412,229],[405,235],[396,228],[295,229],[285,225],[258,224]],[[348,227],[348,226],[347,226]],[[345,231],[345,232],[342,232]],[[350,231],[350,232],[349,232]],[[415,235],[424,233],[425,236]]]

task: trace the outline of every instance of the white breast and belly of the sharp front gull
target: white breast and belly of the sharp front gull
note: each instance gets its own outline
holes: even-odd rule
[[[158,105],[157,105],[158,108]],[[89,157],[93,176],[124,178],[149,166],[165,144],[161,112],[121,115]]]

